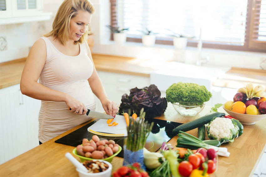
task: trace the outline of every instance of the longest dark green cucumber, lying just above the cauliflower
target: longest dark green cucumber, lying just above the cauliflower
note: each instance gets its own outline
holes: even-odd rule
[[[222,112],[212,112],[198,119],[195,119],[191,122],[187,122],[187,123],[177,126],[176,128],[173,129],[172,134],[177,135],[179,131],[187,132],[189,130],[193,130],[194,128],[200,127],[202,125],[205,125],[211,122],[211,120],[214,117],[223,117],[224,115],[225,113],[222,113]]]

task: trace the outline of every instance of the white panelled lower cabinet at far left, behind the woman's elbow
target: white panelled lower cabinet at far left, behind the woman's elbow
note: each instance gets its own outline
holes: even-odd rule
[[[0,89],[0,164],[38,146],[40,105],[22,95],[19,84]]]

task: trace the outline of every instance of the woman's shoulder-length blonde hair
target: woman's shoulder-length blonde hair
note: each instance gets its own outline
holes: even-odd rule
[[[59,7],[54,22],[52,25],[52,31],[43,36],[55,36],[63,45],[69,40],[69,23],[70,19],[75,17],[79,10],[84,10],[89,13],[94,13],[95,9],[89,0],[65,0]],[[90,29],[90,28],[89,28]],[[87,40],[87,36],[90,34],[88,30],[79,38],[78,41],[74,41],[75,44],[83,43]]]

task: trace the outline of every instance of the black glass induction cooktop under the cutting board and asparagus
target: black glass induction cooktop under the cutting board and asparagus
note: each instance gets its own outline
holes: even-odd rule
[[[164,141],[168,142],[171,138],[173,138],[175,135],[172,134],[172,130],[175,127],[182,124],[182,123],[170,122],[170,121],[152,119],[152,118],[151,119],[145,118],[145,121],[148,121],[149,123],[154,122],[151,133],[149,134],[145,144],[145,148],[148,149],[150,152],[156,152],[159,148],[161,148],[161,144]],[[87,129],[95,122],[96,120],[90,122],[87,125],[84,125],[83,127],[75,130],[74,132],[71,132],[66,136],[56,140],[55,143],[61,143],[76,147],[77,145],[82,144],[83,138],[87,138],[90,140],[94,134],[88,132]],[[99,135],[98,137],[100,139],[113,139],[115,143],[119,144],[122,147],[122,151],[117,156],[118,157],[124,156],[123,148],[124,148],[124,140],[126,137],[105,137]]]

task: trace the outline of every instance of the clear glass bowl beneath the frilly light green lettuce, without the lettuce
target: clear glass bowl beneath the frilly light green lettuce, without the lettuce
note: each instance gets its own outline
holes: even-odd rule
[[[203,103],[202,105],[196,105],[196,103],[179,102],[172,103],[172,105],[175,110],[182,116],[196,116],[205,107],[205,103]]]

